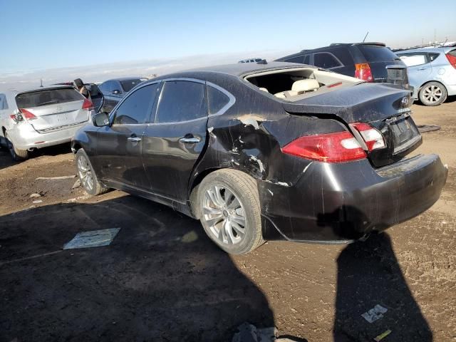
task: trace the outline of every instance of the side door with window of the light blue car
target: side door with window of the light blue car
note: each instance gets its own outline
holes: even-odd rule
[[[430,80],[432,66],[427,52],[399,53],[398,56],[408,68],[410,86],[418,90],[423,83]]]

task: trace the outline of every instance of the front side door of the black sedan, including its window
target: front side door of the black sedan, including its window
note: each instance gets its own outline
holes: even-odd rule
[[[150,123],[152,106],[160,83],[130,93],[110,115],[110,125],[97,133],[95,168],[100,179],[150,188],[142,165],[142,135]]]

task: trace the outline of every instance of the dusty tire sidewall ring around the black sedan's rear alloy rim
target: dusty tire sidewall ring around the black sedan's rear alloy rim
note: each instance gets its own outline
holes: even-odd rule
[[[214,237],[212,234],[211,230],[209,229],[209,226],[206,224],[203,218],[203,203],[204,203],[204,196],[206,191],[209,189],[209,187],[212,187],[212,185],[222,185],[222,187],[228,188],[230,191],[234,193],[234,195],[239,199],[239,202],[241,202],[242,207],[244,208],[244,217],[246,219],[247,223],[247,232],[239,244],[222,244],[219,242],[219,239],[217,237]],[[223,249],[225,252],[229,254],[245,254],[249,251],[252,250],[252,246],[255,244],[255,237],[256,237],[256,232],[255,230],[258,229],[257,225],[257,220],[254,218],[255,211],[252,210],[254,206],[258,206],[257,203],[252,201],[252,198],[249,197],[247,194],[244,194],[242,191],[239,191],[239,187],[236,184],[232,184],[229,182],[227,177],[224,177],[223,174],[217,174],[217,172],[214,172],[214,174],[209,174],[201,183],[198,189],[198,209],[199,212],[201,213],[201,223],[202,227],[204,228],[204,232],[206,232],[207,236],[209,239],[211,239],[215,244],[217,244],[218,247]],[[257,208],[257,212],[259,212],[259,207]],[[259,219],[259,222],[261,222],[261,217],[257,218]],[[261,224],[260,227],[261,229]]]

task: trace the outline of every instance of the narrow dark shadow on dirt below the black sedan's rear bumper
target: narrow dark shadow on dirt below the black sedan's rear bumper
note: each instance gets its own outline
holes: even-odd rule
[[[339,255],[337,267],[334,341],[373,341],[388,330],[391,333],[385,341],[432,341],[430,327],[405,282],[388,234],[349,244]],[[361,314],[377,305],[388,311],[369,323]]]

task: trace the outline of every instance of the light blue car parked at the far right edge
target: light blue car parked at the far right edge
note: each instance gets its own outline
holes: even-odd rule
[[[440,105],[456,95],[456,48],[417,48],[396,51],[408,66],[413,98],[423,105]]]

